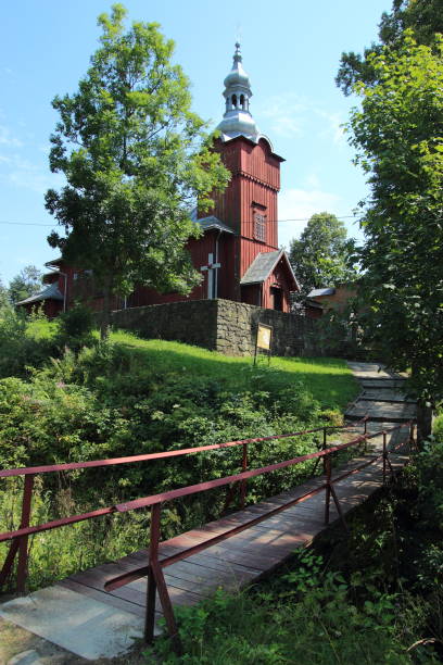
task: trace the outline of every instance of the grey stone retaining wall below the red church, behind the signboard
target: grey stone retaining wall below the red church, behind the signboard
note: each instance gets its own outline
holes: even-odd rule
[[[231,300],[190,300],[117,310],[112,323],[142,337],[197,344],[227,355],[252,355],[257,324],[273,326],[273,354],[318,355],[315,321]]]

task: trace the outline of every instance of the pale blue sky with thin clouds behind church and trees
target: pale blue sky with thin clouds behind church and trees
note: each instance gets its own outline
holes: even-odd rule
[[[54,258],[46,238],[53,226],[45,191],[62,178],[48,167],[56,123],[55,95],[73,92],[98,46],[104,0],[21,0],[2,7],[0,43],[0,278]],[[223,80],[240,39],[250,75],[251,112],[281,168],[279,241],[289,246],[305,221],[328,210],[352,215],[367,189],[352,164],[340,125],[356,103],[334,85],[342,51],[377,39],[391,0],[126,0],[129,21],[155,21],[176,42],[175,61],[191,80],[193,109],[214,127],[224,112]],[[349,234],[358,226],[343,218]],[[5,224],[8,223],[8,224]],[[21,223],[20,225],[17,223]],[[25,225],[27,224],[27,225]]]

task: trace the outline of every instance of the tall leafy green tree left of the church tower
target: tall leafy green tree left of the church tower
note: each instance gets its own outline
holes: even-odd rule
[[[68,264],[92,269],[104,294],[102,337],[112,294],[142,284],[188,292],[200,275],[185,250],[199,235],[189,210],[208,208],[228,172],[191,112],[189,81],[170,62],[174,42],[155,23],[124,32],[126,10],[99,16],[101,47],[73,96],[55,97],[60,122],[50,167],[67,185],[49,190],[47,209],[64,227],[48,240]]]

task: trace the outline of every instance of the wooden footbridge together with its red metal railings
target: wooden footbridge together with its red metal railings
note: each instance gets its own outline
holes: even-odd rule
[[[355,368],[354,368],[355,371]],[[385,378],[392,382],[392,378]],[[278,441],[299,437],[303,432],[289,432],[282,436],[261,437],[242,441],[229,441],[221,444],[203,446],[187,450],[174,450],[165,453],[137,455],[113,460],[101,460],[86,463],[72,463],[33,468],[8,469],[0,472],[0,477],[24,476],[24,494],[21,527],[15,531],[0,534],[1,541],[11,541],[9,554],[0,573],[0,585],[4,584],[16,565],[16,588],[24,593],[27,570],[28,539],[35,534],[67,527],[69,524],[93,519],[111,513],[126,513],[132,510],[149,509],[151,526],[149,547],[139,552],[107,563],[89,570],[71,575],[48,590],[37,591],[35,603],[40,600],[48,612],[48,598],[56,600],[73,594],[71,608],[77,598],[89,599],[112,612],[121,612],[143,623],[144,638],[151,641],[156,633],[156,623],[161,615],[166,620],[169,635],[177,641],[177,626],[174,615],[175,605],[191,605],[214,592],[218,587],[239,589],[253,580],[268,574],[288,559],[298,548],[308,545],[328,524],[340,519],[346,528],[346,513],[360,504],[374,493],[389,476],[395,474],[408,460],[410,446],[414,444],[414,413],[404,399],[397,401],[398,385],[384,385],[383,390],[394,390],[393,401],[384,394],[375,393],[374,404],[365,391],[350,410],[351,418],[356,419],[343,427],[322,427],[311,432],[319,432],[321,447],[317,452],[284,460],[261,468],[250,468],[253,459],[253,447],[265,441]],[[362,402],[366,413],[360,417]],[[376,404],[378,402],[379,404]],[[397,403],[404,411],[385,422],[385,416],[377,417],[371,410],[383,411],[388,404]],[[394,414],[395,415],[395,414]],[[410,417],[413,416],[413,417]],[[392,414],[391,414],[392,417]],[[406,417],[408,419],[406,419]],[[382,419],[383,422],[380,422]],[[346,435],[345,442],[338,438]],[[333,437],[333,439],[331,439]],[[210,450],[242,451],[241,472],[225,478],[217,478],[170,491],[143,497],[127,503],[102,507],[81,515],[53,520],[47,524],[30,526],[31,494],[34,479],[37,475],[91,468],[135,464],[149,461],[176,457],[180,455],[204,454]],[[346,451],[350,461],[340,466],[334,463],[338,455]],[[314,475],[303,485],[261,503],[246,506],[248,480],[261,475],[289,468],[306,461],[313,461]],[[161,516],[163,506],[169,501],[225,487],[228,498],[238,491],[241,510],[202,527],[162,541]],[[40,595],[39,595],[40,593]],[[69,597],[71,598],[71,597]],[[12,600],[0,605],[0,616],[17,623],[29,630],[47,637],[71,649],[79,655],[71,642],[56,642],[53,632],[45,633],[38,627],[36,617],[26,614],[26,603],[22,599]],[[74,603],[74,604],[73,604]],[[56,622],[56,602],[54,617]],[[81,605],[84,606],[84,605]],[[23,618],[24,617],[24,618]],[[59,617],[60,618],[60,617]],[[130,619],[129,619],[130,620]],[[137,623],[136,622],[136,623]],[[75,640],[73,641],[75,643]],[[179,644],[177,644],[179,648]],[[101,654],[96,654],[96,657]]]

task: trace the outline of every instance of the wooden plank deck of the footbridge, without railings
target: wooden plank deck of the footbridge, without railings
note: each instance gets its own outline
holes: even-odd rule
[[[380,424],[377,424],[377,430],[379,428]],[[394,438],[396,434],[393,432],[392,437]],[[404,430],[403,436],[407,436],[407,430]],[[332,474],[332,478],[354,469],[367,462],[370,456],[380,454],[381,439],[381,436],[372,439],[368,454],[354,457],[347,464],[340,466]],[[393,468],[398,469],[408,460],[407,450],[391,453],[390,459]],[[344,515],[381,487],[382,466],[382,460],[379,460],[336,485]],[[324,482],[325,477],[318,476],[294,490],[283,492],[161,543],[160,560],[204,542],[258,515],[266,515],[276,506],[302,497]],[[337,509],[331,501],[330,523],[338,518]],[[170,600],[174,605],[193,605],[211,595],[219,587],[237,590],[252,584],[281,565],[296,549],[309,545],[325,528],[325,492],[322,491],[230,537],[225,542],[212,545],[201,553],[193,554],[165,568],[165,580]],[[59,586],[118,610],[144,616],[147,577],[130,581],[118,589],[105,591],[106,582],[124,573],[136,570],[142,565],[148,565],[148,550],[140,550],[115,563],[103,564],[71,575],[67,579],[60,581]],[[156,612],[160,617],[162,613],[159,602]]]

